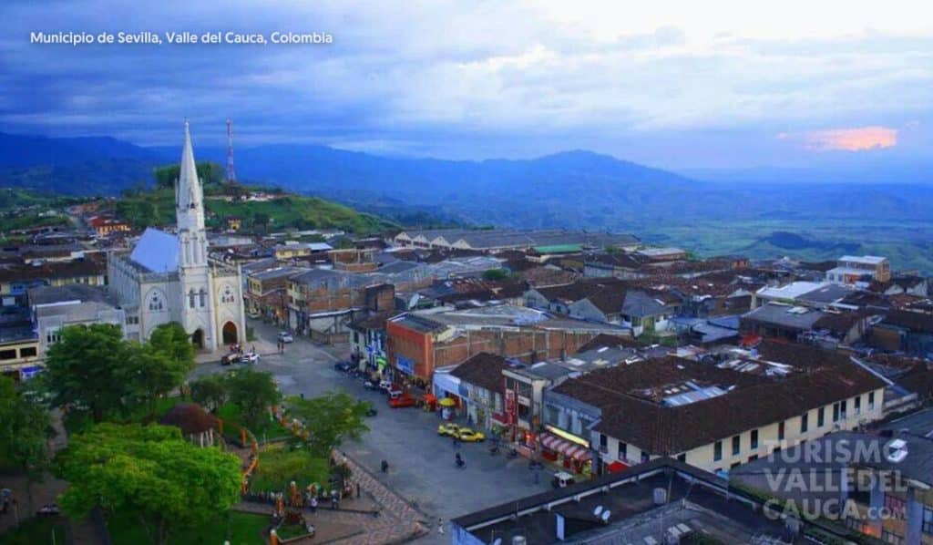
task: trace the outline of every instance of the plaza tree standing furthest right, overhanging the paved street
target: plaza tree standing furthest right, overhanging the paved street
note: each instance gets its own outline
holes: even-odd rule
[[[289,411],[298,416],[311,433],[311,449],[329,456],[344,440],[359,440],[369,431],[369,403],[344,392],[328,392],[317,398],[288,398]]]

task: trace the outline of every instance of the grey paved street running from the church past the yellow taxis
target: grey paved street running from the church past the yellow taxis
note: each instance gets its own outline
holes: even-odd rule
[[[342,388],[373,402],[379,414],[369,419],[369,433],[359,443],[345,444],[343,450],[425,515],[432,532],[416,542],[450,542],[449,532],[442,538],[437,535],[439,518],[446,523],[472,510],[550,488],[545,473],[535,484],[527,461],[490,455],[484,443],[463,444],[460,452],[466,468],[456,468],[451,440],[437,434],[441,421],[436,414],[414,408],[390,409],[383,394],[366,390],[360,381],[333,369],[336,360],[346,358],[348,348],[344,347],[341,354],[339,348],[316,346],[297,338],[287,345],[284,355],[279,355],[275,347],[277,329],[255,321],[250,326],[256,328],[258,340],[245,342],[244,346],[249,350],[256,345],[262,355],[258,369],[271,371],[285,394],[311,397]],[[204,363],[194,374],[229,369],[218,363]],[[379,471],[383,459],[389,463],[387,475]]]

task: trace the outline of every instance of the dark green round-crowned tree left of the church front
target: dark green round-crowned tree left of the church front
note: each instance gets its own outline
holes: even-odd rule
[[[89,412],[94,422],[124,412],[133,362],[119,326],[69,326],[60,335],[49,347],[42,373],[52,404]]]

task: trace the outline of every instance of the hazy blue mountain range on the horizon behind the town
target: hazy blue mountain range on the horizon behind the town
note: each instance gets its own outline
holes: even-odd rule
[[[195,148],[201,161],[224,161],[222,147],[195,142]],[[0,133],[0,187],[118,194],[151,183],[152,168],[179,155],[179,147],[106,137]],[[236,149],[241,180],[322,196],[403,224],[631,231],[649,242],[752,257],[785,249],[773,244],[772,234],[791,232],[809,242],[788,253],[809,259],[844,247],[899,254],[903,266],[933,270],[933,170],[872,164],[854,159],[823,170],[678,174],[582,150],[532,160],[444,161],[303,144]]]

